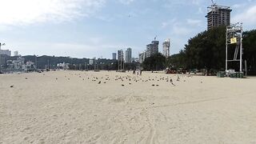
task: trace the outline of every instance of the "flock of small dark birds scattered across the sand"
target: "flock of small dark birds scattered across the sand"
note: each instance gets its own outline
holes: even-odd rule
[[[45,75],[45,74],[43,74]],[[175,83],[177,82],[186,82],[186,78],[192,78],[192,75],[166,75],[166,76],[154,76],[154,77],[142,77],[142,76],[138,76],[138,75],[126,75],[126,76],[122,76],[122,75],[115,75],[114,78],[110,78],[109,75],[105,75],[102,77],[97,77],[94,74],[85,74],[85,76],[82,76],[82,74],[69,74],[70,77],[68,77],[67,75],[65,75],[66,80],[70,81],[70,78],[72,78],[71,76],[76,76],[78,78],[81,78],[82,81],[92,81],[92,82],[97,82],[98,85],[100,84],[106,84],[107,82],[110,82],[111,80],[114,80],[116,82],[121,81],[122,84],[121,86],[125,86],[124,83],[128,82],[129,85],[132,85],[133,83],[136,82],[151,82],[151,83],[157,83],[157,82],[166,82],[166,83],[170,83],[172,86],[176,86]],[[186,77],[186,78],[185,78]],[[183,78],[183,80],[182,80]],[[26,80],[28,78],[25,78]],[[58,78],[54,78],[56,81],[58,80]],[[202,82],[201,82],[202,83]],[[159,86],[159,84],[152,84],[151,86]],[[11,88],[14,87],[14,85],[10,86]]]

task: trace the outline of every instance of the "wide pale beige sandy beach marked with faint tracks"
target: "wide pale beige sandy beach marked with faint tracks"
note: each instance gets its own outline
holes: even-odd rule
[[[256,143],[256,78],[0,75],[2,143]]]

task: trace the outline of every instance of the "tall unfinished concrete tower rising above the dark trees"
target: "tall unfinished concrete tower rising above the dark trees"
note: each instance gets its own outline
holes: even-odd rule
[[[232,10],[230,10],[229,6],[213,4],[207,8],[208,12],[206,18],[208,30],[217,26],[230,26],[230,12]]]

